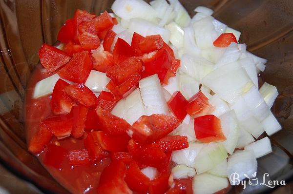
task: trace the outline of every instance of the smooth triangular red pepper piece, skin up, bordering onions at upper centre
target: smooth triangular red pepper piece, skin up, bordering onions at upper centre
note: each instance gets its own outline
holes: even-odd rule
[[[113,49],[114,64],[119,64],[126,58],[134,56],[137,56],[135,50],[124,39],[118,38]]]

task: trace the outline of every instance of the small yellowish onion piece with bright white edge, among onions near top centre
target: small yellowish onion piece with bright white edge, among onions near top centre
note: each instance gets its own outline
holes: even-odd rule
[[[167,28],[171,32],[170,42],[177,49],[182,48],[184,31],[181,29],[181,27],[177,23],[171,22],[166,25],[165,28]]]

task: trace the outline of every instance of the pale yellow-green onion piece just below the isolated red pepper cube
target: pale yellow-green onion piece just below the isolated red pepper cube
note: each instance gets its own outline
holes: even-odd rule
[[[193,167],[197,174],[209,171],[227,158],[227,152],[221,143],[204,144],[199,154],[194,158]]]

